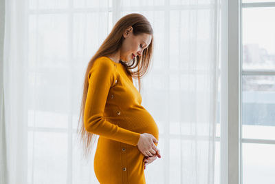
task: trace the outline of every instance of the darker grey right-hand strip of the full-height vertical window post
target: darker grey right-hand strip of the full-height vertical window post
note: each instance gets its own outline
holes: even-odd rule
[[[240,1],[228,1],[228,184],[240,180]]]

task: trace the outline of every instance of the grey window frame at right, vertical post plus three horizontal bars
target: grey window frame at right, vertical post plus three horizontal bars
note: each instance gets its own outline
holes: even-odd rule
[[[221,176],[220,183],[242,184],[242,143],[273,144],[275,140],[243,139],[243,76],[275,75],[274,70],[243,70],[243,8],[275,7],[275,2],[221,0]]]

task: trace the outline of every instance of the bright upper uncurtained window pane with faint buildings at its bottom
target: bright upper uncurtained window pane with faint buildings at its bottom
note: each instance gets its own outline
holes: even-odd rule
[[[243,8],[243,69],[275,70],[275,8]]]

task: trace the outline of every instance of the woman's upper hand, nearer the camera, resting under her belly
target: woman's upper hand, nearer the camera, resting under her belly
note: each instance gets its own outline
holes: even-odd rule
[[[140,134],[140,139],[138,140],[137,147],[144,156],[153,156],[154,154],[159,155],[159,150],[157,149],[157,146],[154,143],[158,143],[155,136],[152,134]]]

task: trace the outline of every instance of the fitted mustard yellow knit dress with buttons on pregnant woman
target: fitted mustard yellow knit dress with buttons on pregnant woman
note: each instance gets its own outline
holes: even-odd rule
[[[122,63],[100,57],[87,76],[89,88],[84,123],[98,134],[94,172],[100,184],[143,184],[144,155],[138,150],[140,134],[159,130],[151,114],[141,105],[142,96]],[[155,143],[157,145],[157,143]]]

